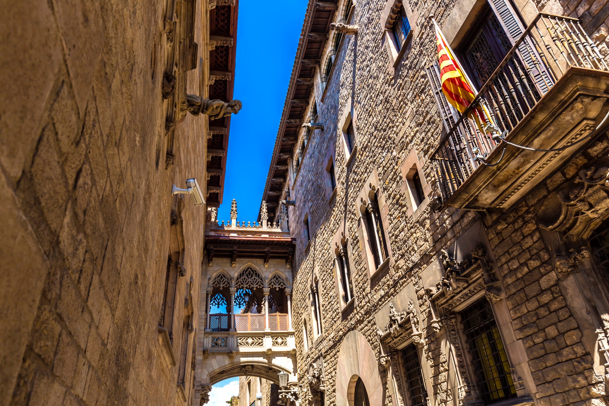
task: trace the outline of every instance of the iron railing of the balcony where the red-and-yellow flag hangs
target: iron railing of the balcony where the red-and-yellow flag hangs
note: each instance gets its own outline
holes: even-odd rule
[[[578,19],[538,14],[467,110],[454,117],[456,122],[447,128],[446,136],[432,155],[443,201],[482,164],[481,158],[486,158],[498,145],[490,132],[481,133],[471,118],[473,110],[488,111],[499,132],[509,135],[572,66],[609,71]]]

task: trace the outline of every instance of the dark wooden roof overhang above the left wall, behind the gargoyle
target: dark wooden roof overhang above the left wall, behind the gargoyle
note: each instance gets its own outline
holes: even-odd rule
[[[237,19],[239,14],[239,0],[234,5],[216,5],[209,10],[209,36],[232,38],[232,46],[216,46],[209,52],[209,74],[229,74],[230,79],[216,79],[209,85],[209,99],[230,102],[233,99],[234,68],[237,54]],[[226,174],[228,134],[231,117],[209,120],[209,131],[212,133],[208,139],[207,149],[207,197],[209,207],[218,207],[222,203],[224,194],[224,177]],[[218,155],[220,154],[220,155]],[[211,155],[211,156],[209,156]]]

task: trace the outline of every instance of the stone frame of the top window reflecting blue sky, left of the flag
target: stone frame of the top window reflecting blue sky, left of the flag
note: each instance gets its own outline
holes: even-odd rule
[[[400,7],[404,7],[404,11],[406,12],[406,18],[408,18],[408,22],[410,23],[410,33],[404,41],[400,51],[398,51],[395,35],[393,35],[393,21],[395,21],[396,16],[400,12]],[[387,0],[385,3],[385,8],[379,20],[381,29],[383,31],[381,46],[385,48],[387,57],[389,57],[389,70],[392,72],[392,74],[395,74],[396,68],[398,68],[400,62],[403,61],[406,55],[410,52],[410,48],[412,47],[412,38],[417,35],[419,30],[417,26],[417,19],[417,10],[415,9],[414,12],[412,12],[410,4],[407,0]]]

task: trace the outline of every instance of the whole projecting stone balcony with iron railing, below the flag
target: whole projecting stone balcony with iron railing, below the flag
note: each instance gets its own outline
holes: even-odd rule
[[[607,88],[609,68],[579,21],[540,13],[432,154],[444,205],[513,205],[591,141]],[[487,110],[498,131],[481,133],[474,109]]]

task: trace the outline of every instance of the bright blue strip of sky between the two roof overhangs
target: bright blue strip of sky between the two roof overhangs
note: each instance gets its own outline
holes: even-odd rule
[[[230,219],[233,199],[239,220],[258,218],[307,3],[287,0],[263,10],[259,1],[239,1],[233,97],[243,109],[231,118],[219,220]]]

